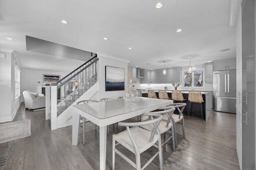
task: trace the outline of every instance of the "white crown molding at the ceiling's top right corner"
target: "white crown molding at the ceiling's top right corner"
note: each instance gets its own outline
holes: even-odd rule
[[[236,28],[242,0],[229,0],[228,25]]]

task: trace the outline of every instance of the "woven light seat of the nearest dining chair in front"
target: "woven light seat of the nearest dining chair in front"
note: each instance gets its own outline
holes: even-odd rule
[[[158,141],[160,137],[158,134],[155,134],[154,139],[151,143],[149,143],[151,131],[142,129],[141,127],[132,127],[130,128],[130,132],[135,139],[140,153],[149,149],[152,146],[152,143],[156,143],[156,141]],[[134,147],[132,145],[132,141],[130,140],[127,130],[116,134],[115,140],[135,154]]]

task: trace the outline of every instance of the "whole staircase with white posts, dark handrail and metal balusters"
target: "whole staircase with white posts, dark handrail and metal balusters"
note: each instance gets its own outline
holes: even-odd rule
[[[98,92],[97,61],[95,56],[60,81],[46,84],[46,119],[52,130],[71,125],[72,105]]]

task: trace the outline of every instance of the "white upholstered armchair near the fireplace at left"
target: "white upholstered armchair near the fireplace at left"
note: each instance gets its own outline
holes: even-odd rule
[[[44,94],[38,94],[25,90],[23,92],[26,109],[39,109],[45,107],[45,96]]]

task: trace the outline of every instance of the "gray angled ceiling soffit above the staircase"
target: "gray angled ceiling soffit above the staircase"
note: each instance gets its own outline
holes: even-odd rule
[[[91,59],[91,53],[88,51],[83,51],[80,49],[68,47],[66,45],[45,41],[42,39],[30,37],[28,35],[26,35],[26,49],[27,51],[32,51],[35,53],[64,57],[80,61],[88,61]]]

